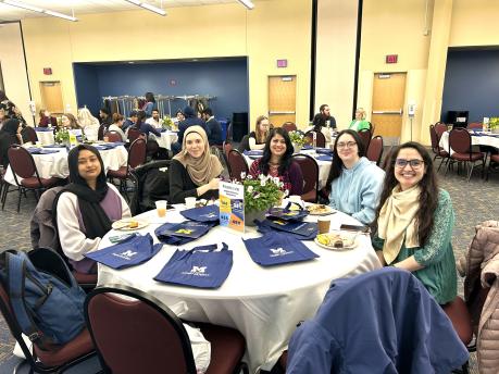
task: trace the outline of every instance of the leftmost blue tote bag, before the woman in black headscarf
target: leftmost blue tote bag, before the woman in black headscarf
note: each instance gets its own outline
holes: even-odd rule
[[[162,247],[162,244],[152,244],[151,234],[134,235],[117,245],[88,252],[85,257],[112,269],[126,269],[149,261]]]

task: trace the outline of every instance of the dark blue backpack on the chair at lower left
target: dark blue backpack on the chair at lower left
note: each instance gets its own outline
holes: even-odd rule
[[[0,280],[22,332],[38,347],[64,345],[85,327],[85,292],[54,251],[0,253]]]

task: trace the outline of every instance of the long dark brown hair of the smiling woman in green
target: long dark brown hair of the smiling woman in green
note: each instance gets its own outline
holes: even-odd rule
[[[434,224],[434,213],[438,204],[438,184],[435,170],[433,167],[433,160],[426,148],[415,141],[408,141],[403,145],[398,146],[390,152],[390,158],[387,162],[387,169],[385,174],[385,183],[383,185],[382,195],[379,198],[379,205],[376,210],[376,220],[379,217],[379,212],[385,204],[386,200],[390,197],[391,190],[399,183],[395,177],[395,161],[401,149],[412,148],[421,154],[424,161],[425,173],[419,185],[421,187],[420,195],[420,210],[416,216],[417,238],[420,246],[423,247],[429,237]]]

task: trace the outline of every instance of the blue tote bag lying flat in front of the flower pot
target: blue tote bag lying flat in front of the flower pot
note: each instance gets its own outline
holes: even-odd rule
[[[300,240],[284,233],[267,233],[261,238],[242,241],[251,260],[262,266],[308,261],[319,257]]]

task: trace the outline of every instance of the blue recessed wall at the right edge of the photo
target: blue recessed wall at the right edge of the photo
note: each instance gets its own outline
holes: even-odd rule
[[[469,123],[499,116],[499,50],[447,53],[440,121],[454,110],[470,111]]]

